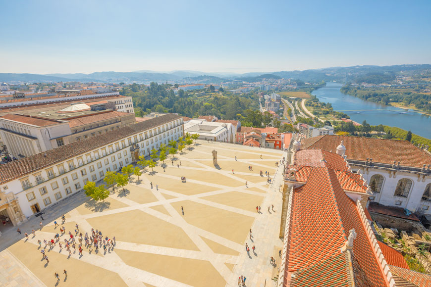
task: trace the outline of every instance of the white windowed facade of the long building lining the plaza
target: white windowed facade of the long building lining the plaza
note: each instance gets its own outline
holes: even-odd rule
[[[101,181],[107,171],[131,164],[136,147],[139,155],[147,156],[151,149],[183,136],[182,119],[175,119],[3,183],[0,192],[17,199],[24,216],[30,217],[81,191],[87,181]]]

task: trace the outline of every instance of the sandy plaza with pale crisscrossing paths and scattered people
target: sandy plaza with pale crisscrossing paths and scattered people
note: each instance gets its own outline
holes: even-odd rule
[[[271,279],[277,275],[282,246],[278,234],[283,184],[282,166],[275,162],[285,153],[206,141],[192,147],[176,154],[173,164],[169,156],[164,170],[159,162],[154,172],[146,168],[139,180],[133,176],[125,192],[115,188],[105,202],[95,203],[80,192],[47,209],[45,226],[37,228],[34,237],[31,229],[39,227],[40,218],[20,226],[22,235],[16,228],[4,232],[0,247],[15,243],[0,253],[0,285],[224,287],[238,286],[243,275],[247,286],[275,286]],[[271,204],[273,209],[268,210]],[[256,206],[261,206],[260,213]],[[50,260],[46,263],[37,241],[60,234],[54,220],[61,223],[61,214],[66,216],[66,233],[60,242],[69,231],[75,235],[78,224],[82,234],[91,234],[94,228],[104,238],[115,237],[114,249],[90,253],[83,244],[82,255],[72,248],[69,256],[57,244],[45,249]],[[276,258],[274,265],[269,264],[271,256]],[[59,283],[55,272],[60,274]]]

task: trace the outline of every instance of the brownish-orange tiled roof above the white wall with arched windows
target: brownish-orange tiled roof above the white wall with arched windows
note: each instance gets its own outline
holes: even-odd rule
[[[400,161],[401,166],[422,167],[431,164],[431,155],[408,141],[324,135],[303,139],[302,149],[324,149],[335,152],[344,141],[347,159],[393,164]]]

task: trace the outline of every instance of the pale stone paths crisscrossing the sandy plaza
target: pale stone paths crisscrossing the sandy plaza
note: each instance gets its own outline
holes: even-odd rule
[[[238,150],[236,145],[233,145],[232,146],[233,148],[229,148],[230,145],[228,144],[219,144],[219,143],[212,143],[212,144],[205,143],[202,145],[207,147],[211,146],[212,148],[216,146],[217,150],[223,149],[226,151],[237,151],[237,152],[239,151],[242,153],[249,153],[249,154],[256,155],[255,151],[251,151],[251,150],[248,151],[247,149],[248,147],[243,147],[245,148],[244,150],[242,148],[241,150]],[[194,153],[199,152],[199,153],[208,155],[208,152],[200,151],[199,146],[193,152]],[[282,155],[285,156],[285,154],[282,154],[281,152],[279,153],[279,155],[274,154],[273,156],[274,162],[277,159],[281,159]],[[251,173],[245,173],[245,172],[235,172],[235,174],[232,174],[229,171],[217,170],[213,167],[203,164],[202,162],[197,161],[197,160],[203,161],[202,158],[187,158],[179,155],[177,155],[176,157],[182,160],[183,162],[189,161],[189,162],[193,162],[195,165],[201,166],[200,168],[182,166],[181,167],[182,169],[194,169],[194,170],[201,170],[203,172],[216,172],[224,176],[230,177],[232,179],[235,179],[239,182],[244,182],[244,180],[237,177],[236,175],[247,175],[247,176],[254,175],[254,176],[260,177],[258,174],[251,174]],[[265,157],[269,158],[271,156],[268,154],[265,154]],[[218,155],[218,160],[232,161],[233,159]],[[263,169],[272,168],[268,165],[256,162],[255,160],[256,158],[238,159],[239,162],[247,163],[253,166],[259,166]],[[205,182],[205,180],[200,181],[200,180],[187,179],[187,182],[215,187],[218,190],[203,192],[195,195],[185,195],[171,190],[165,190],[161,188],[159,188],[159,190],[156,190],[156,188],[154,188],[151,191],[157,197],[158,201],[145,203],[145,204],[137,203],[133,200],[128,199],[127,197],[118,197],[116,196],[116,194],[112,194],[110,196],[115,198],[115,200],[118,200],[128,206],[112,209],[112,210],[106,210],[98,213],[85,214],[85,215],[80,214],[76,209],[74,209],[69,212],[70,218],[67,218],[68,222],[70,221],[77,222],[79,224],[80,231],[83,232],[84,234],[84,232],[90,232],[91,228],[95,228],[95,229],[97,228],[97,227],[92,227],[88,223],[87,219],[105,216],[109,214],[116,214],[116,213],[130,211],[130,210],[142,210],[152,216],[155,216],[161,220],[172,223],[175,226],[182,228],[182,230],[189,236],[189,238],[193,241],[193,243],[199,248],[199,251],[117,241],[114,250],[112,252],[108,252],[104,257],[98,256],[95,254],[90,255],[88,254],[86,249],[84,249],[84,255],[78,256],[78,252],[76,252],[76,253],[72,253],[70,257],[78,260],[82,260],[84,262],[93,264],[100,268],[104,268],[111,272],[117,273],[128,286],[133,286],[133,287],[145,286],[145,283],[148,283],[153,286],[160,286],[160,287],[170,287],[170,286],[184,287],[188,285],[171,280],[169,278],[162,277],[157,274],[147,272],[145,270],[128,266],[115,253],[115,249],[129,250],[134,252],[146,252],[146,253],[159,254],[159,255],[169,255],[169,256],[176,256],[181,258],[207,260],[214,266],[214,268],[227,282],[226,286],[237,286],[237,279],[240,275],[245,275],[247,277],[246,283],[248,286],[264,286],[265,280],[269,281],[272,274],[273,267],[269,265],[269,257],[277,256],[278,254],[274,254],[274,246],[277,246],[277,245],[281,246],[282,244],[281,240],[278,239],[280,216],[281,216],[281,212],[280,212],[281,193],[278,192],[278,184],[281,183],[282,181],[282,174],[281,174],[282,167],[280,167],[277,171],[278,172],[275,174],[275,181],[273,182],[272,185],[268,185],[265,182],[258,183],[258,184],[249,182],[248,184],[249,187],[255,187],[263,191],[267,191],[266,193],[250,191],[243,186],[229,187],[229,186],[223,186],[222,184],[207,183]],[[176,176],[171,176],[171,175],[161,174],[161,173],[158,173],[158,175],[162,177],[178,180],[178,177]],[[271,178],[273,177],[271,176]],[[150,180],[148,179],[148,177],[142,176],[142,182],[138,186],[148,188],[149,184],[150,184]],[[134,184],[132,183],[132,185]],[[276,188],[272,188],[272,186]],[[257,212],[253,212],[253,211],[238,209],[235,207],[219,204],[219,203],[201,198],[201,197],[221,194],[229,191],[238,191],[238,192],[244,192],[248,194],[265,196],[264,202],[262,205],[262,214],[258,214]],[[162,195],[162,193],[176,196],[176,198],[166,199]],[[243,214],[249,217],[254,217],[256,220],[254,221],[254,224],[251,227],[253,229],[254,243],[251,242],[250,240],[247,240],[247,242],[250,246],[250,250],[253,244],[256,245],[257,256],[255,256],[253,252],[250,252],[251,257],[249,257],[247,255],[247,252],[245,252],[245,247],[242,246],[241,244],[238,244],[237,242],[233,242],[229,239],[225,239],[209,231],[200,229],[196,226],[193,226],[187,223],[185,219],[171,205],[171,203],[173,202],[183,201],[183,200],[190,200],[190,201],[206,204],[209,206],[213,206],[216,208],[221,208],[224,210],[235,212],[238,214]],[[163,205],[163,207],[168,211],[170,216],[150,208],[151,206],[156,206],[160,204]],[[271,213],[268,212],[267,208],[270,204],[274,204],[275,213],[272,211]],[[48,224],[48,226],[52,226],[52,225],[54,225],[54,223]],[[248,238],[248,234],[245,236],[247,236]],[[38,231],[36,232],[36,237],[28,240],[28,243],[33,243],[37,245],[38,239],[41,239],[41,241],[43,241],[43,239],[48,239],[52,237],[53,237],[53,233]],[[215,253],[201,237],[211,239],[219,244],[222,244],[226,247],[229,247],[241,253],[239,256]],[[59,252],[58,245],[54,247],[54,249],[52,249],[51,252]],[[68,252],[66,249],[63,249],[60,254],[63,254],[64,256],[68,256]],[[227,268],[225,263],[236,264],[235,268],[233,269],[233,272],[231,272]],[[266,283],[266,286],[272,286],[272,285],[270,285],[270,282]]]

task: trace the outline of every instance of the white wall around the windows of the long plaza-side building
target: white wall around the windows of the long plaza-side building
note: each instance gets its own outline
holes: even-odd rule
[[[177,125],[177,126],[175,126]],[[159,127],[158,127],[159,128]],[[141,131],[139,133],[136,133],[137,136],[137,142],[140,146],[139,153],[140,155],[149,155],[149,150],[156,148],[158,149],[158,146],[160,146],[161,143],[167,144],[170,140],[178,140],[179,137],[184,136],[184,129],[182,126],[182,119],[172,121],[167,124],[167,128],[165,128],[165,125],[161,128],[165,128],[164,131],[161,129],[161,133],[158,133],[158,128],[152,129],[151,131],[156,131],[157,134],[153,133],[150,137],[149,131]],[[145,137],[145,132],[147,132],[147,138]],[[132,163],[132,156],[130,153],[130,144],[128,144],[128,139],[131,139],[132,144],[135,143],[134,136],[128,136],[127,138],[121,139],[117,142],[106,144],[103,147],[97,148],[95,150],[86,152],[84,154],[75,156],[73,159],[68,159],[63,162],[58,162],[55,165],[44,168],[40,171],[36,171],[28,176],[22,177],[20,179],[13,180],[11,182],[8,182],[6,184],[2,184],[0,186],[0,190],[3,191],[3,187],[7,186],[7,191],[12,191],[15,193],[15,196],[18,198],[18,204],[20,205],[22,212],[26,217],[30,217],[33,215],[33,211],[31,209],[31,205],[38,203],[41,210],[44,208],[49,208],[54,203],[66,198],[67,196],[80,191],[83,189],[86,181],[94,181],[97,182],[99,180],[102,180],[105,176],[105,172],[107,169],[110,171],[117,171],[122,163],[122,166],[128,165]],[[142,136],[141,136],[142,135]],[[157,141],[156,141],[157,138]],[[124,141],[125,145],[124,147],[121,144],[121,141]],[[116,149],[116,143],[118,143],[119,149]],[[112,146],[112,152],[109,152],[109,146]],[[102,152],[102,150],[105,149],[105,153]],[[99,158],[97,156],[99,154]],[[105,154],[105,155],[104,155]],[[88,157],[87,157],[88,156]],[[82,161],[78,161],[78,158],[82,157]],[[115,159],[115,160],[113,160]],[[73,164],[75,166],[74,169],[69,169],[68,162],[70,160],[73,160]],[[108,160],[108,161],[106,161]],[[98,166],[99,163],[99,166]],[[58,168],[59,165],[62,165],[64,167],[65,172],[60,175],[60,170]],[[92,171],[90,167],[93,167],[94,170]],[[54,172],[54,178],[49,179],[47,171],[53,169]],[[81,171],[85,171],[85,175],[82,175]],[[103,176],[100,174],[103,172]],[[35,175],[38,173],[41,174],[41,177],[43,179],[43,182],[38,184],[36,182]],[[76,179],[73,179],[73,175],[76,173]],[[96,175],[96,179],[93,179],[92,176]],[[23,179],[28,179],[29,183],[31,184],[31,187],[23,190],[21,181]],[[62,179],[67,178],[67,183],[63,184]],[[53,189],[52,184],[56,182],[58,185],[58,188]],[[75,184],[79,184],[79,188],[75,187]],[[48,191],[46,194],[41,194],[39,191],[40,188],[45,187]],[[69,187],[71,189],[70,194],[66,194],[66,188]],[[35,195],[35,199],[32,199],[29,201],[27,199],[27,194],[33,192]],[[61,198],[56,199],[55,193],[60,192]],[[51,200],[51,203],[48,205],[45,205],[44,199],[49,197]]]

